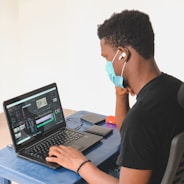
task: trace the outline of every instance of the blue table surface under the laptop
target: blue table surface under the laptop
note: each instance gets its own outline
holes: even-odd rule
[[[80,117],[87,114],[87,111],[78,111],[66,117],[67,126],[76,128],[81,125]],[[101,123],[101,126],[106,126]],[[91,126],[83,122],[80,128],[84,131]],[[105,170],[111,165],[118,155],[120,136],[116,128],[113,133],[103,139],[85,152],[85,155],[100,169]],[[19,184],[72,184],[85,183],[85,181],[73,171],[65,168],[53,170],[45,166],[18,158],[12,148],[5,147],[0,150],[0,184],[10,184],[15,181]]]

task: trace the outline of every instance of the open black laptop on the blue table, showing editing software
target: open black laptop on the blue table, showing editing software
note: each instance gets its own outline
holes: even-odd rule
[[[45,161],[50,146],[64,144],[84,152],[103,138],[66,127],[56,83],[6,100],[3,108],[17,156],[50,168],[60,167]]]

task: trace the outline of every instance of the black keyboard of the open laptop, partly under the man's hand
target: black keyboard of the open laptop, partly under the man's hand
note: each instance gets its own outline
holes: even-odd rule
[[[49,148],[51,146],[61,144],[67,145],[82,136],[83,134],[79,132],[65,129],[30,147],[26,150],[26,154],[29,154],[36,158],[45,159],[45,157],[48,156]]]

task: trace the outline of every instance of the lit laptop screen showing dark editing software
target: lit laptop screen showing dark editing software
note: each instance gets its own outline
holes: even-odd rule
[[[55,83],[5,101],[4,108],[16,145],[66,125]]]

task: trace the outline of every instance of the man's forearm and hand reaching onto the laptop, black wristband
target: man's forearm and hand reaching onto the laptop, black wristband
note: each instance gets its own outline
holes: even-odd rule
[[[119,183],[117,178],[101,171],[92,162],[86,162],[87,158],[79,150],[72,147],[63,145],[52,146],[46,160],[48,162],[58,163],[67,169],[78,172],[78,174],[89,184]]]

